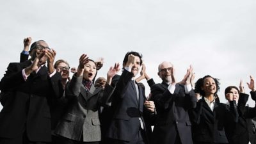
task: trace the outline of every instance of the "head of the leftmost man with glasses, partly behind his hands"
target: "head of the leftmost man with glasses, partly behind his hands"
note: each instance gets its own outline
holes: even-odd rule
[[[31,60],[35,60],[36,56],[45,51],[45,49],[51,50],[48,44],[44,40],[38,40],[34,42],[29,50],[29,55],[31,56]],[[45,63],[47,61],[47,56],[43,56],[41,58],[40,63]]]

